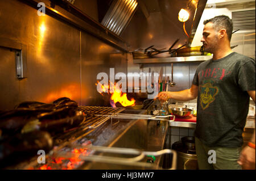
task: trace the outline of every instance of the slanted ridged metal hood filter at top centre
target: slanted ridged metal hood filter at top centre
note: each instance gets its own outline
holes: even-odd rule
[[[119,36],[133,17],[137,5],[136,0],[114,0],[101,24]]]

